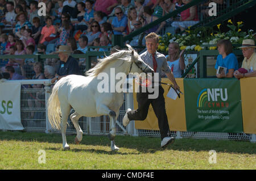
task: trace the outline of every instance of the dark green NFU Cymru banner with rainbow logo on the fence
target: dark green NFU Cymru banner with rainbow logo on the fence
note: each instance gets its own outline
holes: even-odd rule
[[[187,131],[243,132],[240,81],[184,79]]]

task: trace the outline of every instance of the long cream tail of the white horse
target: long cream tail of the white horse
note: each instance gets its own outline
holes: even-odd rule
[[[58,81],[52,89],[52,94],[48,99],[48,120],[51,127],[54,129],[60,129],[61,121],[61,111],[60,111],[60,100],[58,96],[58,91],[60,87],[60,82]]]

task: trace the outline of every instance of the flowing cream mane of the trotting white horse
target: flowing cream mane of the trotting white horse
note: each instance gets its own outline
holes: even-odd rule
[[[115,52],[110,56],[106,56],[106,58],[98,59],[98,64],[94,66],[94,68],[86,71],[85,75],[94,77],[100,74],[106,68],[106,66],[108,66],[112,62],[129,61],[131,58],[131,51],[133,50],[133,48],[131,48],[130,45],[126,46],[129,48],[129,50],[118,50],[118,52]]]

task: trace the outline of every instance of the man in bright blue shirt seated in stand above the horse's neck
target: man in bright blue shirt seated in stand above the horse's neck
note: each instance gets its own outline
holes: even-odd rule
[[[123,10],[121,7],[116,7],[115,10],[115,17],[112,20],[112,29],[114,32],[114,35],[123,35],[123,33],[126,33],[126,27],[127,27],[127,16],[123,14]]]

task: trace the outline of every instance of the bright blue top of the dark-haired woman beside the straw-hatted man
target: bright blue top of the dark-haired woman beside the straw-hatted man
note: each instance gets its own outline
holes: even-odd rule
[[[226,69],[226,73],[228,73],[229,69],[234,69],[237,70],[238,69],[238,61],[237,61],[237,57],[234,55],[234,53],[230,53],[228,54],[228,56],[226,56],[224,59],[222,58],[222,55],[219,54],[217,56],[217,61],[215,64],[215,69],[218,69],[218,66],[223,66]]]

